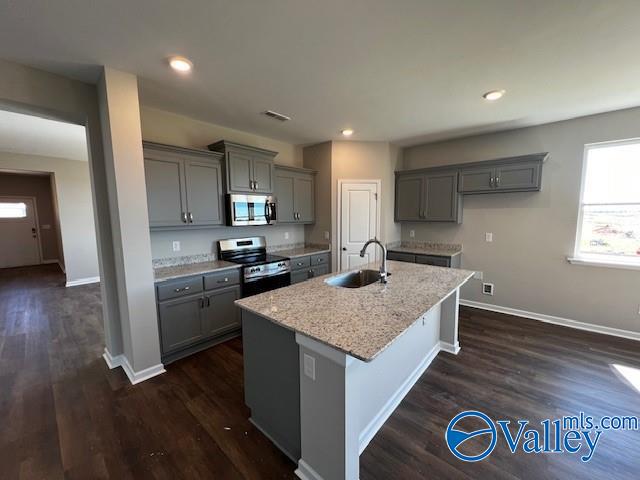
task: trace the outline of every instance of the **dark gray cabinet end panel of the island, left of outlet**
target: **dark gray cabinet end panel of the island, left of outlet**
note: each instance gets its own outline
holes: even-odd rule
[[[300,458],[300,371],[295,333],[242,309],[245,403],[251,422]]]

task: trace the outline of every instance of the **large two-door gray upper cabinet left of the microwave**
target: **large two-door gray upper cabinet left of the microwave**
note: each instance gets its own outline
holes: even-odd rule
[[[153,229],[221,225],[221,155],[144,142],[144,168]]]

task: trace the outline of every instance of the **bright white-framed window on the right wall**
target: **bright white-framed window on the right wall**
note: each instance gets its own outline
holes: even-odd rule
[[[640,266],[640,139],[585,147],[572,260]]]

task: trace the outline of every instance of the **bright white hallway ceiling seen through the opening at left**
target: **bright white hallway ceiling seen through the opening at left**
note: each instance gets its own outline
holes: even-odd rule
[[[0,151],[87,161],[85,129],[0,110]]]

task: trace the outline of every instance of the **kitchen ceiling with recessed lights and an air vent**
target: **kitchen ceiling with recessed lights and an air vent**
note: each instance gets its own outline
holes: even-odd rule
[[[0,58],[89,82],[109,65],[146,105],[294,143],[348,126],[409,145],[640,105],[639,18],[638,0],[10,1]]]

